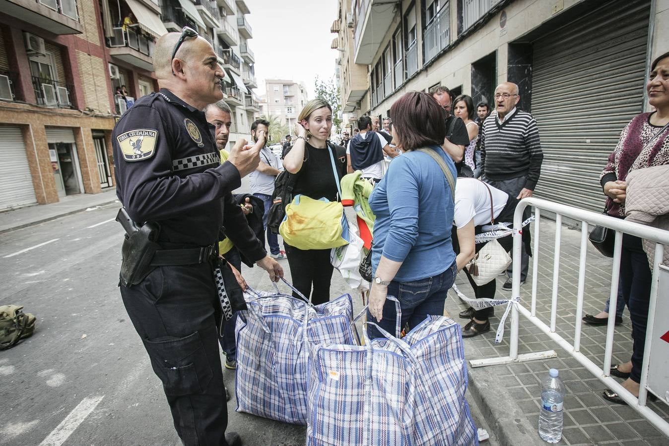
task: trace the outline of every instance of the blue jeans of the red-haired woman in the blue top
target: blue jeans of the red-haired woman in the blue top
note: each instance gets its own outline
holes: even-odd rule
[[[453,286],[453,282],[458,274],[456,262],[446,269],[446,271],[436,276],[424,279],[411,280],[411,282],[397,282],[393,280],[388,285],[388,295],[396,296],[399,300],[399,309],[401,310],[400,328],[409,325],[409,330],[420,322],[423,322],[428,315],[443,316],[444,303],[446,302],[446,293]],[[367,310],[367,320],[375,322],[376,318]],[[395,302],[386,300],[383,305],[383,318],[378,322],[379,326],[396,336],[395,324],[397,323],[397,309]],[[381,332],[373,326],[367,325],[367,334],[369,339],[382,337]]]

